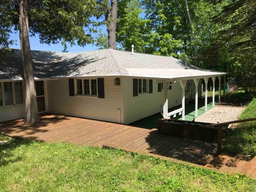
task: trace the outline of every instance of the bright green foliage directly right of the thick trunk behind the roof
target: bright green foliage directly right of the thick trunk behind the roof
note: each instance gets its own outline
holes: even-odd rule
[[[120,0],[118,2],[117,42],[124,50],[173,55],[178,57],[177,50],[181,40],[174,39],[169,33],[158,33],[151,27],[151,20],[142,18],[145,10],[138,0]]]

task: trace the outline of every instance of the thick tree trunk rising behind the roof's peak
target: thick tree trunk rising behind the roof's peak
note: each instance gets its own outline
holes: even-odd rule
[[[116,49],[116,22],[117,22],[117,0],[111,0],[111,7],[109,1],[105,1],[106,11],[105,20],[107,21],[108,31],[108,48]]]

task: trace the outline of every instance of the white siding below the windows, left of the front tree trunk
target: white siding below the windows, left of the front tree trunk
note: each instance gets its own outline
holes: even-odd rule
[[[25,105],[0,107],[0,122],[18,119],[25,116]]]

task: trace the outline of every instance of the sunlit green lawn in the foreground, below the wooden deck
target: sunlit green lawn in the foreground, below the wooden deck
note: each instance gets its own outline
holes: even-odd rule
[[[255,191],[256,181],[123,150],[1,135],[1,191]]]

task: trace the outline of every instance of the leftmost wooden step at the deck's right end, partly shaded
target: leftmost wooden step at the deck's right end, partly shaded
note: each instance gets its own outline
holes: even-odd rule
[[[210,163],[207,163],[205,166],[220,170],[221,167],[225,166],[225,164],[231,161],[233,157],[233,155],[221,153],[220,155],[215,157]]]

